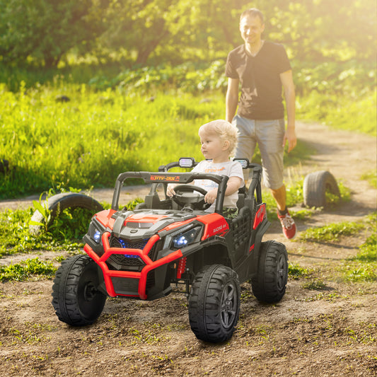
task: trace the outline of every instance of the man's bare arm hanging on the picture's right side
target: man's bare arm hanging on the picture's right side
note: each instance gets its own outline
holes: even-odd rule
[[[286,103],[286,132],[284,134],[283,146],[288,141],[288,151],[290,152],[296,146],[296,130],[295,130],[295,100],[296,95],[294,93],[294,79],[292,77],[292,71],[285,71],[280,74],[280,80],[284,88],[284,98]]]

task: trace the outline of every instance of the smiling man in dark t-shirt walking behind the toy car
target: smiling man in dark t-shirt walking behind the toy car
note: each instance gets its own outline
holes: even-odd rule
[[[263,30],[261,11],[251,8],[241,14],[240,35],[245,43],[231,51],[226,62],[226,120],[238,128],[236,157],[251,161],[255,146],[259,145],[264,183],[277,202],[284,236],[290,239],[296,236],[296,224],[286,208],[283,156],[287,141],[289,152],[296,146],[294,82],[284,47],[262,40]]]

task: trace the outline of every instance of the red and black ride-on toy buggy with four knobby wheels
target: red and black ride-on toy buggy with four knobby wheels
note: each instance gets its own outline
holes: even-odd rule
[[[193,158],[161,166],[158,173],[120,174],[111,209],[93,216],[83,238],[87,255],[70,257],[57,270],[52,305],[59,320],[90,325],[102,313],[107,296],[155,300],[170,294],[172,284],[184,284],[196,337],[223,342],[238,321],[240,284],[250,280],[259,301],[280,301],[288,277],[286,248],[273,240],[262,242],[269,226],[260,187],[262,168],[239,161],[253,169],[253,179],[248,190],[239,193],[233,219],[222,215],[228,177],[168,172],[178,166],[192,168]],[[134,210],[119,209],[122,185],[131,178],[151,183],[151,190]],[[195,179],[219,184],[214,213],[204,211],[205,191],[187,185]],[[166,196],[171,182],[178,184],[173,198]]]

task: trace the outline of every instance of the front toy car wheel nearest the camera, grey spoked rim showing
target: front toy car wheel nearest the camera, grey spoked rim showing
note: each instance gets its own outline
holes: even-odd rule
[[[232,337],[240,313],[240,283],[233,269],[206,266],[197,274],[189,297],[190,326],[199,340],[224,342]]]

